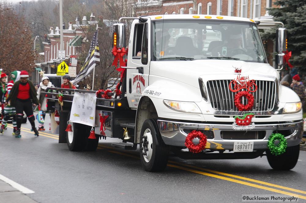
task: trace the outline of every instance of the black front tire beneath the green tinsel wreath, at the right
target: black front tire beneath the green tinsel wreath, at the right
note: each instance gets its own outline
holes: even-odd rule
[[[266,150],[267,159],[274,170],[291,170],[297,164],[300,154],[300,145],[287,147],[284,154],[275,156],[270,150]]]

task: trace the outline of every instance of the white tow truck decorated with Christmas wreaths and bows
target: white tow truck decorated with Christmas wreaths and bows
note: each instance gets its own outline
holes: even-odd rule
[[[164,170],[170,152],[184,159],[266,155],[273,169],[290,170],[296,165],[303,133],[301,102],[295,92],[280,85],[278,74],[285,65],[285,28],[277,30],[276,67],[271,67],[258,23],[248,18],[123,17],[113,26],[117,49],[126,47],[123,20],[133,21],[122,94],[97,98],[96,139],[88,139],[91,126],[79,123],[72,123],[73,132],[65,132],[71,93],[93,91],[53,88],[57,93],[47,93],[50,110],[60,112],[60,142],[67,140],[73,151],[95,150],[101,136],[97,119],[101,114],[108,116],[102,122],[106,136],[122,140],[115,146],[136,150],[140,144],[146,171]],[[69,92],[64,94],[62,110],[56,102],[59,91]],[[128,132],[124,137],[123,128]],[[185,143],[194,132],[206,136],[204,147],[197,145],[199,140],[205,141],[199,136],[193,139],[193,146]],[[271,153],[267,146],[269,137],[276,133],[287,142],[280,155]],[[196,147],[199,151],[192,153],[190,149]]]

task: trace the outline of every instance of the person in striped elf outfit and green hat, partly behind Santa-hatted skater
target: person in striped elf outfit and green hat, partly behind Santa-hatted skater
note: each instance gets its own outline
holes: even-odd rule
[[[6,95],[4,96],[3,99],[3,103],[6,102],[7,97],[9,96],[9,92],[12,89],[14,82],[18,81],[20,79],[20,71],[13,71],[11,72],[11,81],[8,82],[7,84],[7,91],[6,91]],[[3,109],[3,108],[2,108]],[[17,131],[17,122],[16,122],[16,109],[15,107],[12,107],[10,105],[10,103],[8,103],[5,107],[4,107],[4,118],[2,119],[2,125],[0,127],[0,132],[2,133],[3,130],[6,127],[6,123],[9,120],[10,117],[13,116],[13,133],[15,133]]]

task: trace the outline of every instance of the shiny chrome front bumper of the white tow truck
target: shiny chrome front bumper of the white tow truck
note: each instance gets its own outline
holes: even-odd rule
[[[235,131],[232,129],[232,124],[185,123],[165,120],[157,120],[157,124],[165,144],[179,147],[185,147],[185,139],[188,135],[184,132],[185,129],[211,130],[214,139],[207,139],[206,148],[217,150],[233,150],[234,142],[254,142],[253,150],[267,149],[268,138],[276,130],[293,130],[291,135],[285,136],[287,146],[290,147],[298,145],[303,135],[303,121],[255,125],[255,129],[249,131],[265,131],[266,136],[261,140],[223,140],[221,131]],[[199,139],[195,138],[193,142],[198,143]]]

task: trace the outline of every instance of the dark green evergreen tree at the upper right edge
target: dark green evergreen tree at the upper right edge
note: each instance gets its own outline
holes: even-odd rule
[[[288,29],[288,50],[292,51],[290,63],[300,71],[306,71],[306,0],[278,0],[278,8],[268,9],[274,21],[284,23]],[[272,37],[273,32],[273,37]],[[263,39],[275,38],[275,30],[263,34]]]

